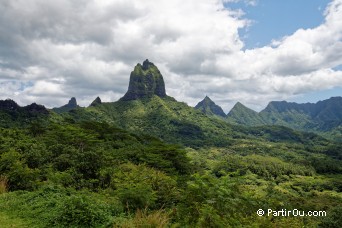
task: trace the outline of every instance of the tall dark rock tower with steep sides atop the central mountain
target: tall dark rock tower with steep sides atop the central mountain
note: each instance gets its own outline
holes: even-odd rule
[[[166,97],[165,84],[158,68],[146,59],[142,65],[138,63],[131,72],[128,91],[120,100],[136,100],[153,95]]]

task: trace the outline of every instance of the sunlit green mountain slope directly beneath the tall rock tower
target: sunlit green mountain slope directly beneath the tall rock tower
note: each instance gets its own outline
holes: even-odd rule
[[[171,97],[156,95],[79,108],[65,116],[77,121],[106,121],[132,132],[193,146],[228,145],[233,135],[230,125],[225,121],[208,118],[201,111]]]

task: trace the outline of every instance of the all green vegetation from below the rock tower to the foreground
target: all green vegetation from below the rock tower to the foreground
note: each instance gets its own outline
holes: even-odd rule
[[[0,128],[2,227],[341,227],[341,145],[313,133],[155,96],[20,121]]]

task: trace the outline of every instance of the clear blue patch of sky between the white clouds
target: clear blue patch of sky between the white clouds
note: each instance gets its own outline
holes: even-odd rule
[[[265,46],[272,40],[291,35],[300,28],[314,28],[324,21],[327,0],[257,0],[226,3],[231,9],[242,9],[252,25],[240,31],[245,48]]]

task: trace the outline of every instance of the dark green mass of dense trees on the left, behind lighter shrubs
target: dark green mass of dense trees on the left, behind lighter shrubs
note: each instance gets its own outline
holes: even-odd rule
[[[54,179],[68,187],[97,188],[109,184],[105,177],[110,169],[128,161],[173,175],[189,169],[179,147],[105,123],[52,123],[0,131],[0,170],[8,176],[10,190],[34,189],[40,181]]]

